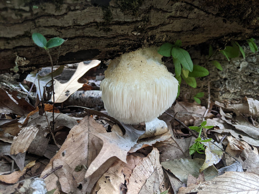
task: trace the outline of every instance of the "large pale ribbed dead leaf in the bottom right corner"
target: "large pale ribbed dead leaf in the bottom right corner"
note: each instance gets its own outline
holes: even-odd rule
[[[249,172],[225,172],[210,181],[181,187],[177,194],[258,194],[259,175]]]

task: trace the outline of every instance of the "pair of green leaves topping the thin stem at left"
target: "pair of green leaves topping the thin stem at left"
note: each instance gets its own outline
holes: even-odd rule
[[[45,50],[58,47],[65,42],[63,38],[59,37],[52,38],[47,42],[46,38],[41,33],[33,33],[32,38],[37,46],[44,48]]]

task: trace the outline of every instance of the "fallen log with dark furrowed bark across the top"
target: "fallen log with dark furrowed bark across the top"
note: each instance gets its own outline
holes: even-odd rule
[[[109,0],[108,0],[109,1]],[[58,65],[112,59],[140,47],[180,39],[183,46],[257,37],[259,1],[240,0],[0,0],[0,73],[50,66],[31,38],[67,41],[51,49]],[[217,44],[216,44],[217,43]],[[58,62],[57,62],[58,61]]]

